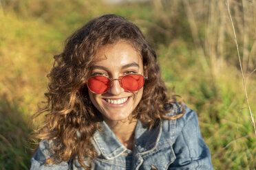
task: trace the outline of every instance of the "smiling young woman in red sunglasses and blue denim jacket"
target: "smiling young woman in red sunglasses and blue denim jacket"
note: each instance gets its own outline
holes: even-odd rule
[[[213,169],[197,114],[168,97],[136,25],[100,16],[54,59],[31,169]]]

